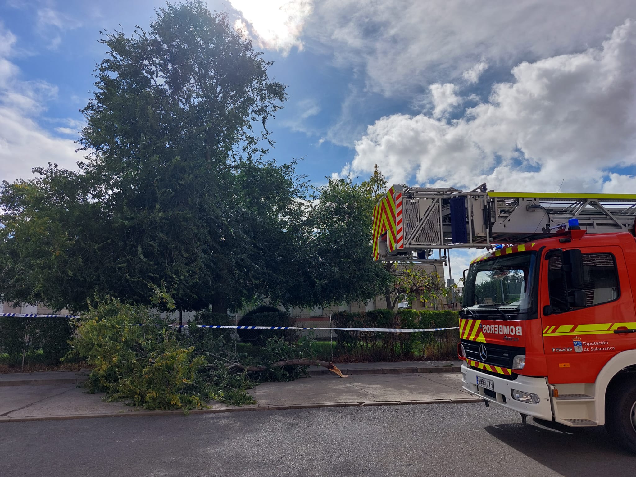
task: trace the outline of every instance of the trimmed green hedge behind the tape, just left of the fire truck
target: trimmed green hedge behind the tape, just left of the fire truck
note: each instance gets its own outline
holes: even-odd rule
[[[392,310],[337,312],[331,315],[336,328],[452,328],[459,314],[450,310]],[[459,341],[457,329],[422,333],[375,333],[336,331],[336,352],[343,359],[391,361],[396,359],[452,358]]]

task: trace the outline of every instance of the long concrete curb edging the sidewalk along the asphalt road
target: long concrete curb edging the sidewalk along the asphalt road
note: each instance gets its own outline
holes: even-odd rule
[[[193,409],[188,411],[190,414],[220,414],[226,412],[245,412],[245,411],[285,411],[293,409],[315,409],[315,408],[343,408],[343,407],[368,407],[368,406],[400,406],[406,404],[467,404],[467,403],[481,403],[483,399],[477,397],[461,397],[459,399],[420,399],[416,401],[366,401],[357,403],[310,403],[310,404],[284,404],[275,405],[268,404],[261,406],[260,404],[254,404],[252,406],[242,406],[235,408],[220,408],[220,409]],[[61,415],[61,416],[48,416],[48,417],[8,417],[0,416],[1,422],[32,422],[41,420],[68,420],[68,419],[87,419],[87,418],[99,418],[99,417],[140,417],[140,416],[184,416],[184,411],[181,410],[165,410],[165,411],[128,411],[118,413],[105,413],[105,414],[74,414],[74,415]]]

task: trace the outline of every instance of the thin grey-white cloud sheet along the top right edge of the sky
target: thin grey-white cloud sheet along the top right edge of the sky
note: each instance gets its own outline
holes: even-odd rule
[[[633,0],[322,0],[303,39],[362,71],[371,92],[412,97],[480,60],[507,66],[598,45],[628,17]]]

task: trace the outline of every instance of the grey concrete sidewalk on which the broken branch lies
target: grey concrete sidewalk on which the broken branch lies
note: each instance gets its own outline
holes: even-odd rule
[[[213,402],[210,409],[190,412],[219,413],[480,401],[462,391],[461,379],[460,373],[376,373],[349,375],[346,378],[329,373],[292,382],[258,385],[250,391],[258,404],[228,406]],[[127,406],[125,403],[106,403],[103,397],[104,394],[87,394],[76,383],[5,385],[0,387],[0,422],[183,414],[181,410],[146,411]]]

